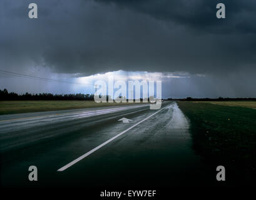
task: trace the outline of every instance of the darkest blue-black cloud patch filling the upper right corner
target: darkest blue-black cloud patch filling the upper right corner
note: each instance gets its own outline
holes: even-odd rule
[[[254,0],[219,1],[219,0],[96,0],[99,2],[113,3],[122,9],[131,9],[148,14],[155,19],[172,21],[176,24],[189,26],[192,29],[208,32],[246,32],[255,33]],[[216,17],[216,5],[225,3],[227,19],[220,22]]]

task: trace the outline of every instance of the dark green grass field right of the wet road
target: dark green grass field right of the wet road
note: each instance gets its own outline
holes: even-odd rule
[[[215,168],[223,164],[232,169],[232,177],[240,174],[252,181],[256,178],[256,110],[243,107],[249,103],[235,104],[241,106],[178,102],[190,119],[195,152]]]

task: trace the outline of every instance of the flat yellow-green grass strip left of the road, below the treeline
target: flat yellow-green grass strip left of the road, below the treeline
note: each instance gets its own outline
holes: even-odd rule
[[[65,109],[118,106],[127,104],[128,103],[95,103],[95,101],[0,101],[0,114],[59,111]]]

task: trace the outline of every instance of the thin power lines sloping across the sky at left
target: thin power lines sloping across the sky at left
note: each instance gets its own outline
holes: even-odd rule
[[[36,79],[36,80],[40,80],[40,81],[51,81],[52,83],[61,82],[61,83],[69,83],[69,84],[80,84],[80,85],[84,85],[84,86],[94,86],[93,84],[83,84],[83,83],[75,83],[75,82],[71,82],[71,81],[64,81],[64,80],[58,80],[58,79],[49,79],[49,78],[43,78],[43,77],[39,77],[39,76],[31,76],[28,74],[14,73],[11,71],[1,70],[1,69],[0,69],[0,74],[18,76],[21,78]]]

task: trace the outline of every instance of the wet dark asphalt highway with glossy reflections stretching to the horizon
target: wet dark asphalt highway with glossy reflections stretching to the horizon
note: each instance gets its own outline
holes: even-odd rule
[[[130,119],[118,121],[121,118]],[[162,188],[215,181],[173,101],[0,116],[2,187]],[[38,168],[29,181],[28,168]]]

